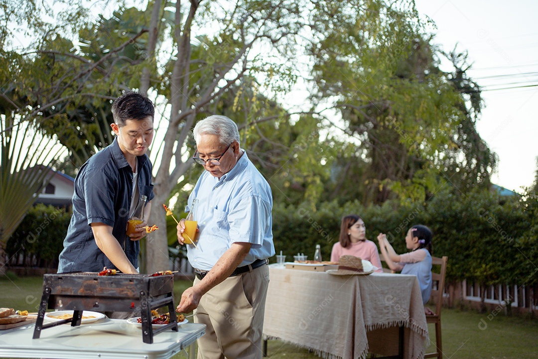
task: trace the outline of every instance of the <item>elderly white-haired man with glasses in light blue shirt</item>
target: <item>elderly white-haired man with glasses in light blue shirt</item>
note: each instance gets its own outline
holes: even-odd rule
[[[231,119],[210,116],[196,124],[193,135],[193,159],[206,171],[186,207],[198,200],[196,247],[187,246],[196,278],[177,310],[194,310],[195,322],[207,325],[198,340],[199,358],[261,358],[266,264],[275,253],[271,188],[239,147]],[[177,229],[183,244],[184,220]]]

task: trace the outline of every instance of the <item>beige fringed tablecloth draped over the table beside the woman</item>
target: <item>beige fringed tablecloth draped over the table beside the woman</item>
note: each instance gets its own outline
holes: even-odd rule
[[[422,358],[428,326],[416,276],[335,276],[270,266],[264,335],[314,350],[323,358],[398,354],[405,326],[406,359]],[[389,353],[390,352],[390,353]]]

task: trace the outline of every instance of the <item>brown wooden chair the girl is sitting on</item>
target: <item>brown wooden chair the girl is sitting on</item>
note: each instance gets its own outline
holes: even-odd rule
[[[424,358],[439,358],[443,357],[443,349],[441,342],[441,307],[443,305],[443,290],[444,290],[444,277],[447,274],[447,262],[448,257],[442,258],[431,256],[431,279],[433,281],[433,289],[431,290],[430,300],[435,301],[435,314],[426,315],[426,322],[435,324],[435,347],[436,351],[427,353]],[[433,266],[441,265],[439,273],[434,272]]]

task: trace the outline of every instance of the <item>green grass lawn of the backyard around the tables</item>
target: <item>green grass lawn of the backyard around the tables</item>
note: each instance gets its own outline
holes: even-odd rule
[[[174,282],[174,302],[191,285],[188,281]],[[0,279],[0,307],[37,312],[41,299],[43,278],[24,277]],[[443,351],[445,358],[454,359],[538,359],[538,320],[506,317],[501,311],[480,314],[443,308]],[[433,325],[430,340],[435,343]],[[317,358],[314,353],[278,340],[268,341],[267,354],[273,359]],[[184,354],[174,359],[185,357]]]

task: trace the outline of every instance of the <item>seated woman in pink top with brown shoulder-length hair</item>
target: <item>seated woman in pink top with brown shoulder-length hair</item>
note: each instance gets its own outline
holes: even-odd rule
[[[383,272],[376,243],[366,239],[366,226],[363,219],[356,214],[342,218],[340,238],[332,246],[331,262],[338,262],[345,254],[370,261],[377,267],[376,272]]]

